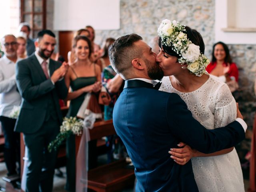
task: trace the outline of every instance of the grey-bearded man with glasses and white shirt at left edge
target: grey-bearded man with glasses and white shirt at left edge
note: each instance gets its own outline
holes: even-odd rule
[[[4,56],[0,59],[0,121],[4,131],[4,160],[7,175],[20,174],[20,134],[14,132],[16,119],[10,117],[14,106],[19,106],[21,96],[17,91],[15,65],[17,57],[17,40],[13,35],[1,39]],[[16,170],[16,162],[18,169]]]

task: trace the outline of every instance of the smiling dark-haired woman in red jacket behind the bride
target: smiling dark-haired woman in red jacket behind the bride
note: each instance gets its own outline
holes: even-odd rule
[[[212,48],[212,61],[206,67],[206,71],[218,78],[221,82],[228,84],[231,92],[238,89],[238,68],[223,42],[217,42]]]

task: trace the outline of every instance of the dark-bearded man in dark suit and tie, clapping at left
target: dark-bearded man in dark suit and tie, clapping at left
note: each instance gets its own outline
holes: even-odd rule
[[[56,39],[50,30],[38,33],[36,52],[16,65],[16,82],[22,96],[15,131],[24,133],[28,152],[26,192],[52,191],[55,151],[47,146],[60,130],[62,114],[59,98],[67,96],[63,76],[68,64],[50,59]]]

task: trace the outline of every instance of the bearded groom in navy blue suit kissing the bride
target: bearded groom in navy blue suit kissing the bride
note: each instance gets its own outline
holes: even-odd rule
[[[163,72],[156,54],[137,34],[118,38],[109,56],[114,70],[126,80],[114,106],[113,122],[135,166],[136,192],[198,192],[191,161],[180,166],[168,150],[181,141],[203,153],[230,148],[245,136],[242,115],[239,112],[241,118],[225,128],[204,128],[180,96],[153,86],[152,79],[160,80]]]

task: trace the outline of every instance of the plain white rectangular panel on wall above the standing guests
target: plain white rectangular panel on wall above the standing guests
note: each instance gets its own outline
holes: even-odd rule
[[[54,0],[54,30],[76,31],[86,25],[95,30],[118,30],[120,1]]]

